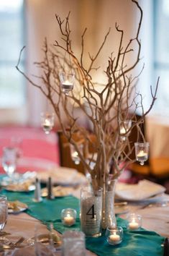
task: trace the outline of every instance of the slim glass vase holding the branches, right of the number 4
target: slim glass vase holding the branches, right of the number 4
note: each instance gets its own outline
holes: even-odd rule
[[[102,223],[103,229],[117,226],[115,210],[114,210],[114,196],[116,189],[117,179],[109,181],[107,188],[103,190],[103,210],[102,210]]]

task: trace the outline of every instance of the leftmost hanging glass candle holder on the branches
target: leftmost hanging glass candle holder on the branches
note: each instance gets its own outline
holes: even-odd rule
[[[54,126],[54,113],[42,112],[41,116],[41,126],[46,135],[50,134],[52,127]]]

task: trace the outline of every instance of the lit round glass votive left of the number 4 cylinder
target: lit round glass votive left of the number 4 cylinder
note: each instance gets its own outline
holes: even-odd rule
[[[61,211],[61,219],[64,226],[73,226],[76,223],[76,210],[66,208]]]

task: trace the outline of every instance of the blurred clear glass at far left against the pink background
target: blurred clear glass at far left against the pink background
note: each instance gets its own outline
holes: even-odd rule
[[[2,153],[2,167],[6,174],[12,179],[17,167],[17,148],[4,147]]]

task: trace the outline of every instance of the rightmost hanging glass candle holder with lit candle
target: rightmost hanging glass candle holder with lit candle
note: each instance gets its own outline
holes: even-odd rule
[[[140,162],[140,165],[143,166],[148,159],[149,142],[135,142],[134,146],[136,159]]]

